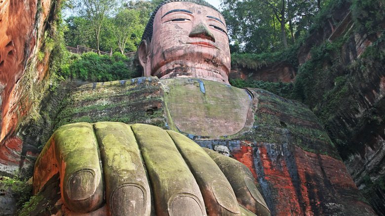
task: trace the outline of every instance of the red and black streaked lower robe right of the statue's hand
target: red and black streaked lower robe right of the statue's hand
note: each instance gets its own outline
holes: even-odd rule
[[[274,144],[252,145],[234,147],[232,155],[258,173],[274,215],[375,215],[367,203],[360,201],[341,160],[297,146],[289,150]]]

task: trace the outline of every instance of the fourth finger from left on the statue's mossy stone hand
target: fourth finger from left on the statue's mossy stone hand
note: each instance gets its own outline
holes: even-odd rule
[[[167,131],[199,185],[210,216],[240,216],[229,181],[211,157],[195,142],[174,131]]]

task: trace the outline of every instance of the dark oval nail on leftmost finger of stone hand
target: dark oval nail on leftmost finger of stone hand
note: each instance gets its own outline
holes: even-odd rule
[[[92,170],[83,170],[73,174],[68,181],[68,198],[77,201],[91,197],[96,190],[94,176]]]

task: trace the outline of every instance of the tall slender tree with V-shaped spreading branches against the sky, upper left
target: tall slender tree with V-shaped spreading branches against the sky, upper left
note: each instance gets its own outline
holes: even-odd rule
[[[96,49],[99,49],[100,31],[103,21],[108,14],[114,9],[116,0],[78,0],[77,7],[80,14],[85,16],[91,23],[96,39]]]

